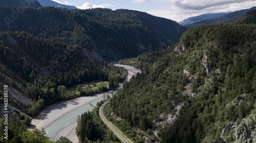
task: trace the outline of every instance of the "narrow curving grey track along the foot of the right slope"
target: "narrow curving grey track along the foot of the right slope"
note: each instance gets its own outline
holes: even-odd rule
[[[106,104],[108,104],[109,102],[110,102],[110,101],[106,101],[103,105],[101,105],[101,107],[100,107],[100,109],[99,109],[99,110],[100,110],[100,117],[101,117],[101,119],[104,121],[104,123],[110,127],[110,129],[118,136],[118,138],[119,138],[122,142],[125,142],[125,143],[127,142],[127,143],[129,143],[129,141],[127,141],[120,133],[118,133],[118,131],[109,123],[109,121],[106,120],[106,118],[105,118],[105,116],[104,116],[104,114],[103,114],[103,110],[104,110]]]

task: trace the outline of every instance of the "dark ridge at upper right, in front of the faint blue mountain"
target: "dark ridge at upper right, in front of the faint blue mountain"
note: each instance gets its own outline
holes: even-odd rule
[[[235,11],[226,15],[223,15],[221,17],[217,17],[217,18],[212,18],[212,19],[208,19],[208,20],[202,20],[199,22],[195,22],[193,24],[188,24],[185,25],[186,28],[193,28],[195,26],[200,26],[200,25],[205,25],[205,24],[225,24],[225,23],[230,23],[234,20],[236,20],[237,18],[245,15],[247,12],[251,11],[251,10],[255,10],[256,7],[252,7],[250,9],[245,9],[245,10],[240,10],[240,11]]]

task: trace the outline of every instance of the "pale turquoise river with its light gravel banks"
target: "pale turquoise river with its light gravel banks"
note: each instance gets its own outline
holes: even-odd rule
[[[129,81],[132,76],[141,72],[141,70],[132,66],[114,65],[124,67],[128,71],[125,81]],[[111,93],[111,91],[89,97],[79,97],[47,106],[39,113],[39,116],[33,118],[31,124],[38,129],[44,128],[47,135],[53,141],[57,140],[60,136],[66,136],[72,142],[77,143],[78,138],[75,135],[77,117],[84,111],[91,111],[93,107],[90,104],[96,106],[97,102],[103,100],[103,95],[109,93]]]

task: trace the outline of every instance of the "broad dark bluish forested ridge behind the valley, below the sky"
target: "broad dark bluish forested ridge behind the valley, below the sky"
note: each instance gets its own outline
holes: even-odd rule
[[[11,17],[18,7],[1,7]],[[132,10],[26,8],[16,20],[0,21],[0,31],[26,31],[41,38],[74,43],[112,61],[167,48],[186,29],[177,22]]]

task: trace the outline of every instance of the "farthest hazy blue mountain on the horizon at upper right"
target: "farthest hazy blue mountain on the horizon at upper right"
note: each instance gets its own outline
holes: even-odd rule
[[[194,16],[194,17],[189,17],[183,21],[180,21],[179,24],[181,25],[188,25],[188,24],[192,24],[195,22],[199,22],[202,20],[206,20],[206,19],[212,19],[212,18],[216,18],[216,17],[220,17],[223,15],[226,15],[228,13],[207,13],[207,14],[202,14],[202,15],[198,15],[198,16]]]

